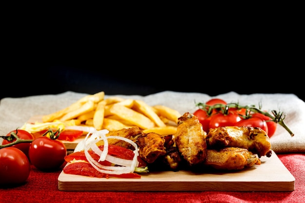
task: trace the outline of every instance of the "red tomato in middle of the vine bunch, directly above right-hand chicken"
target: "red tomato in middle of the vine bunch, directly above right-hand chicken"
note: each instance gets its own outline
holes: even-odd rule
[[[228,115],[224,115],[221,113],[212,115],[210,118],[209,128],[218,128],[224,126],[235,126],[237,122],[239,122],[241,118],[238,114],[230,113]]]

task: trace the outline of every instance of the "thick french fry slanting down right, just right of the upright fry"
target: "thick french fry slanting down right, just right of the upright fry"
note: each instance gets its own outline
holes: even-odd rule
[[[128,120],[128,122],[138,126],[141,129],[155,127],[154,122],[152,122],[150,118],[147,118],[143,114],[127,108],[126,106],[114,104],[109,111],[123,120]]]

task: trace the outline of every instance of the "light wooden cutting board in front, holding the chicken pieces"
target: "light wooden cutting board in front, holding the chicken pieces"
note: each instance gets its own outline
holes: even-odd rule
[[[272,152],[262,164],[236,172],[161,171],[142,174],[140,179],[58,176],[62,191],[293,191],[295,178]]]

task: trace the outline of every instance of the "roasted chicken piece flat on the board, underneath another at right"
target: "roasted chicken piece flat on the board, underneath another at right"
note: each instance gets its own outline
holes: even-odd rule
[[[207,150],[204,164],[220,170],[241,170],[261,165],[261,160],[246,149],[226,147],[220,150]]]

